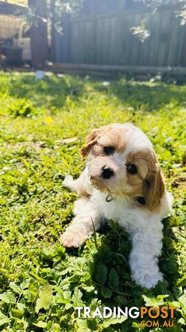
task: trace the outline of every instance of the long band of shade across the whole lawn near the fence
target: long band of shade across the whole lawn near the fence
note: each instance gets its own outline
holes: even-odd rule
[[[120,78],[111,79],[104,84],[105,79],[78,76],[57,75],[45,76],[43,80],[36,80],[34,75],[12,75],[10,77],[10,95],[17,98],[28,98],[36,106],[62,107],[68,95],[75,102],[87,93],[105,94],[108,101],[116,98],[119,103],[127,107],[144,111],[159,111],[167,104],[185,104],[185,86],[165,84],[163,82],[136,82]],[[21,86],[21,89],[20,89]],[[90,89],[87,92],[86,87]]]

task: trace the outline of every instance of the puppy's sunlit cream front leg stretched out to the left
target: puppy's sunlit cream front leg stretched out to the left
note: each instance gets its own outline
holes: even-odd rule
[[[61,243],[65,247],[78,248],[82,246],[95,230],[101,225],[101,215],[88,198],[78,199],[74,208],[75,218],[64,234]],[[93,225],[94,223],[94,225]]]

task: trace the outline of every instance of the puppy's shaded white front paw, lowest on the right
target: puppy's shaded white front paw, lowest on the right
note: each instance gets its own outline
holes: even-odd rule
[[[145,288],[152,288],[155,287],[158,281],[163,280],[163,273],[156,272],[156,273],[143,273],[143,275],[138,275],[136,284],[145,287]]]

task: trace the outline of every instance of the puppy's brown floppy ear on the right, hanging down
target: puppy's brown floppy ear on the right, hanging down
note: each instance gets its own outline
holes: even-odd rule
[[[165,192],[165,180],[161,172],[161,167],[158,165],[158,160],[155,157],[155,163],[152,169],[149,169],[149,174],[147,174],[147,205],[149,210],[154,210],[161,201],[161,197]]]

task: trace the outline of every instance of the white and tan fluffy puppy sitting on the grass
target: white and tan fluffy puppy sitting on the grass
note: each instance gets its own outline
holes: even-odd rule
[[[111,124],[87,136],[81,155],[87,167],[79,178],[66,176],[64,185],[81,196],[74,220],[61,236],[65,247],[79,247],[105,219],[116,221],[130,235],[132,280],[154,287],[163,274],[158,268],[163,224],[172,194],[145,133],[133,124]],[[94,223],[94,225],[93,225]]]

